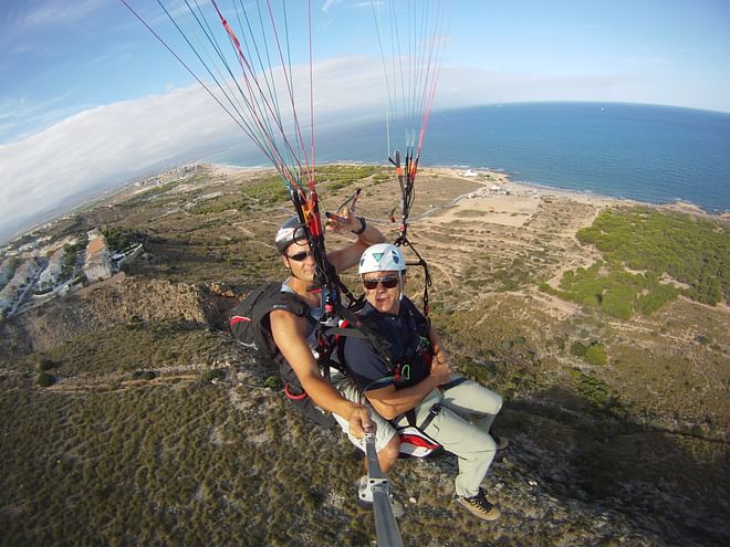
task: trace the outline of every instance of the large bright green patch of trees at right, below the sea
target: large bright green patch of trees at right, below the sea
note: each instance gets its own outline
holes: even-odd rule
[[[565,272],[557,290],[542,283],[540,291],[619,319],[649,315],[679,294],[711,305],[730,299],[723,224],[634,208],[602,212],[577,238],[599,249],[604,260]]]

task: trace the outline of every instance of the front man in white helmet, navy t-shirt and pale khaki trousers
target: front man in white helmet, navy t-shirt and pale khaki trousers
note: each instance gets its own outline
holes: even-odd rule
[[[455,375],[438,334],[404,294],[406,263],[399,248],[368,248],[358,273],[367,298],[361,316],[389,354],[385,362],[369,339],[346,338],[343,355],[358,389],[384,419],[416,425],[456,454],[458,503],[483,520],[499,518],[481,482],[496,451],[507,446],[489,432],[502,398]],[[394,433],[393,425],[378,423],[379,436]]]

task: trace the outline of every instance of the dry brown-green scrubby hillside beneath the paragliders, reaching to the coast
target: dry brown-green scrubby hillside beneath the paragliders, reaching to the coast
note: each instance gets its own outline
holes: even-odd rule
[[[323,210],[362,186],[358,213],[395,239],[388,170],[320,169]],[[434,324],[461,371],[504,396],[496,429],[510,446],[486,483],[503,514],[494,524],[451,502],[453,457],[398,462],[406,544],[730,544],[727,297],[702,303],[693,281],[666,274],[671,297],[617,317],[563,284],[592,266],[625,280],[577,235],[602,212],[692,219],[715,249],[728,245],[727,219],[501,173],[423,169],[417,188],[409,236],[434,277]],[[283,277],[271,239],[290,210],[271,171],[198,166],[76,213],[79,230],[139,234],[145,253],[0,323],[0,545],[371,545],[359,455],[288,407],[267,387],[275,371],[226,330],[248,290]],[[409,274],[417,299],[423,275]],[[53,385],[40,387],[43,375]]]

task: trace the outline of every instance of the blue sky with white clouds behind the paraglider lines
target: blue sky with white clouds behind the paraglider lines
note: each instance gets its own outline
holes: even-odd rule
[[[198,0],[208,13],[209,1]],[[399,11],[426,2],[395,1]],[[157,2],[127,2],[195,61]],[[435,109],[601,101],[730,112],[728,0],[445,3]],[[182,0],[164,4],[186,21]],[[218,4],[226,11],[231,1]],[[286,4],[293,72],[305,82],[306,2]],[[373,2],[311,0],[311,29],[316,129],[382,115]],[[0,0],[0,241],[84,196],[242,136],[121,0]]]

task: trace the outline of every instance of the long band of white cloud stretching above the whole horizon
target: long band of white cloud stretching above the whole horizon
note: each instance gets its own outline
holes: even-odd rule
[[[317,132],[355,127],[387,104],[380,59],[341,57],[314,66]],[[303,133],[309,130],[309,66],[294,67]],[[435,109],[523,101],[645,101],[637,76],[494,73],[445,66]],[[283,86],[279,86],[283,88]],[[566,92],[570,90],[570,92]],[[285,117],[285,115],[284,115]],[[0,231],[22,215],[204,151],[252,146],[198,85],[100,106],[0,146]]]

